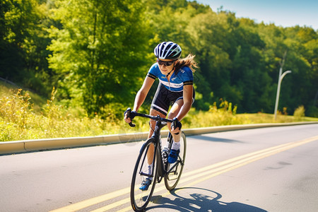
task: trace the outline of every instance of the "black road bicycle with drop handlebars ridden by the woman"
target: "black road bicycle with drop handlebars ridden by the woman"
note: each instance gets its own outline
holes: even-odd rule
[[[162,118],[159,115],[151,116],[137,112],[132,113],[130,108],[127,109],[126,112],[127,117],[130,117],[131,120],[134,119],[134,117],[146,117],[155,120],[153,135],[150,139],[147,139],[141,147],[131,180],[131,206],[134,211],[144,211],[151,201],[151,196],[153,196],[156,183],[160,183],[162,179],[165,179],[165,187],[169,191],[175,189],[177,186],[184,167],[184,160],[187,151],[187,139],[182,131],[179,157],[175,163],[167,163],[167,156],[169,155],[173,139],[169,132],[167,136],[168,149],[167,151],[163,151],[160,131],[167,125],[167,122],[172,123],[174,121],[172,119]],[[174,124],[176,126],[176,123]],[[132,122],[130,122],[129,125],[132,127],[135,126]],[[149,164],[151,163],[153,165],[152,167],[149,167]],[[152,183],[146,191],[141,190],[139,187],[141,187],[144,180],[149,177],[152,177]]]

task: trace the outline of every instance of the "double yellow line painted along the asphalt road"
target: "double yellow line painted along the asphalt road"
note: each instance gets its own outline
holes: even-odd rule
[[[247,164],[252,163],[256,160],[260,160],[262,158],[269,157],[269,156],[274,155],[276,153],[281,153],[283,151],[287,151],[290,148],[295,148],[295,147],[301,146],[305,143],[310,143],[312,141],[317,141],[317,140],[318,140],[318,136],[314,136],[314,137],[311,137],[309,139],[305,139],[302,141],[294,141],[294,142],[290,142],[290,143],[285,143],[282,145],[273,146],[271,148],[266,148],[266,149],[261,150],[261,151],[256,151],[254,153],[248,153],[246,155],[242,155],[242,156],[239,156],[236,158],[225,160],[225,161],[220,162],[220,163],[216,163],[213,165],[202,167],[202,168],[200,168],[198,170],[194,170],[192,172],[186,172],[186,173],[182,174],[182,177],[179,181],[179,185],[182,184],[182,187],[191,187],[194,184],[198,184],[199,182],[203,182],[206,179],[210,179],[210,178],[215,177],[217,175],[220,175],[224,172],[234,170],[237,167],[242,167],[243,165],[247,165]],[[184,184],[187,182],[189,182],[189,183]],[[163,184],[161,184],[161,186],[159,186],[159,187],[155,187],[155,193],[161,192],[163,190],[165,190],[165,186],[163,186]],[[179,190],[181,190],[181,189],[178,189],[178,191]],[[95,204],[100,204],[104,201],[114,199],[116,197],[123,196],[123,195],[129,194],[129,193],[130,193],[130,187],[127,187],[125,189],[121,189],[121,190],[118,190],[116,192],[111,192],[109,194],[104,194],[102,196],[96,196],[92,199],[87,199],[87,200],[78,202],[76,204],[71,204],[69,206],[59,208],[57,210],[54,210],[54,212],[79,211],[83,208],[87,208],[87,207],[93,206]],[[167,196],[169,194],[170,193],[167,192],[167,193],[163,194],[162,196]],[[130,198],[122,199],[120,201],[116,201],[116,202],[109,204],[107,206],[103,206],[101,208],[98,208],[94,212],[107,211],[107,210],[110,210],[112,208],[116,208],[118,206],[122,206],[124,204],[127,204],[129,202],[130,202]],[[129,210],[131,210],[131,206],[129,206],[127,208],[123,208],[121,211],[129,211]]]

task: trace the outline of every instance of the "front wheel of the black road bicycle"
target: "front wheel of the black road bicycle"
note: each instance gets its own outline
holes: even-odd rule
[[[147,154],[150,155],[147,156]],[[150,160],[153,161],[151,173],[149,173],[148,169],[148,157],[151,157]],[[142,191],[139,189],[139,187],[141,187],[141,183],[148,177],[153,177],[152,183],[149,185],[147,190]],[[131,206],[134,211],[145,210],[146,206],[149,204],[149,201],[151,201],[151,196],[153,195],[153,190],[155,189],[157,177],[158,151],[155,151],[155,139],[151,138],[148,139],[141,147],[131,180],[130,199]]]

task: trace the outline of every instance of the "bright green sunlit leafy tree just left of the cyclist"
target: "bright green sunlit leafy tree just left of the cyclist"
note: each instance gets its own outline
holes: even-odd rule
[[[133,99],[151,52],[143,2],[61,0],[54,16],[61,28],[50,31],[49,66],[63,98],[77,100],[89,115]]]

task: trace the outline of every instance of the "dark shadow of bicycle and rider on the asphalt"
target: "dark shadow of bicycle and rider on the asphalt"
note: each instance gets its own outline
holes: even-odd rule
[[[181,192],[182,190],[182,192]],[[182,193],[182,194],[177,194]],[[197,187],[186,187],[175,189],[170,192],[172,198],[161,195],[153,196],[152,203],[148,210],[163,211],[213,211],[213,212],[264,212],[264,209],[257,208],[240,202],[220,201],[222,195],[208,189]]]

